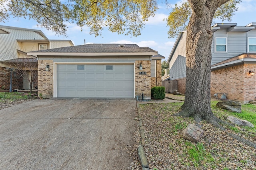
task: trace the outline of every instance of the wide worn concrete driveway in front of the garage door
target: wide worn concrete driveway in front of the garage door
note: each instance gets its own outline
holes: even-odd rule
[[[0,110],[1,169],[128,169],[134,99],[33,100]]]

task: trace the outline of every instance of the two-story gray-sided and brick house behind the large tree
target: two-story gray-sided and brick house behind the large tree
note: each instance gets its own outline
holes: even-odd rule
[[[216,23],[212,32],[211,96],[226,93],[232,100],[256,100],[256,23]],[[178,80],[178,91],[185,93],[186,31],[179,34],[167,63],[170,74],[162,79]]]

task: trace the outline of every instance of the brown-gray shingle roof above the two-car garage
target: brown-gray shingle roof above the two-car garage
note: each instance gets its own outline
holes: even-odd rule
[[[139,47],[136,44],[86,44],[56,49],[32,51],[30,53],[148,53],[157,51],[149,47]]]

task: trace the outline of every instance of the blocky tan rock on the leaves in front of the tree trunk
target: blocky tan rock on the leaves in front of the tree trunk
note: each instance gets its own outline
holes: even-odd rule
[[[196,125],[189,124],[183,132],[182,137],[189,141],[197,143],[202,137],[204,131]]]

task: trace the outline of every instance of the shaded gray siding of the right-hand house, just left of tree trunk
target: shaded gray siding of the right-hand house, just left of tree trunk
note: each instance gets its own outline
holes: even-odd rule
[[[170,68],[170,80],[186,77],[186,57],[178,55],[172,68]]]

